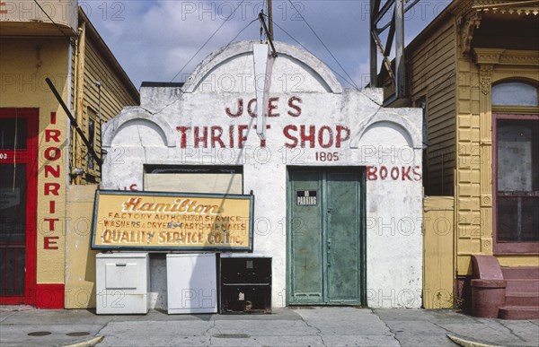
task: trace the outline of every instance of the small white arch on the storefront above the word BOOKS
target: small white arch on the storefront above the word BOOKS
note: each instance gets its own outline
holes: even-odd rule
[[[416,109],[410,110],[416,111]],[[414,113],[417,113],[417,116],[412,116],[421,117],[420,112]],[[392,143],[421,149],[422,137],[421,130],[409,117],[386,108],[359,124],[358,131],[351,138],[350,148],[358,148],[362,144]],[[378,143],[372,143],[374,139]]]

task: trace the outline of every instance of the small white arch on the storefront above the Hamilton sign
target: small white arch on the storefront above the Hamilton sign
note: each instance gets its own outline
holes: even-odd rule
[[[112,143],[121,132],[126,131],[129,126],[144,127],[148,131],[146,134],[139,134],[139,136],[160,138],[159,140],[153,140],[152,143],[159,143],[166,147],[175,147],[176,142],[174,139],[174,132],[171,126],[160,115],[154,115],[146,111],[144,108],[124,108],[121,113],[112,118],[109,122],[103,125],[102,135],[102,147],[110,148]],[[141,145],[144,145],[143,141],[140,141]]]

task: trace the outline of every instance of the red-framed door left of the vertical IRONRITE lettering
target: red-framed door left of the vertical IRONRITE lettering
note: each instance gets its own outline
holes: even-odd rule
[[[0,108],[0,304],[34,304],[38,108]]]

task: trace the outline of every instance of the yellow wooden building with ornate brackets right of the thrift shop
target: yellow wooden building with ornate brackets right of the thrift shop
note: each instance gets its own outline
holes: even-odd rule
[[[501,266],[506,306],[537,295],[538,33],[538,1],[453,1],[405,48],[425,121],[425,308],[469,306],[478,255]]]

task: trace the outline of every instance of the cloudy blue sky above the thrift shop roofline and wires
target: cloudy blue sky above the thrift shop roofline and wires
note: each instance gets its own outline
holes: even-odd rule
[[[274,37],[294,45],[300,42],[331,69],[343,76],[348,74],[363,87],[369,78],[369,3],[370,0],[273,0]],[[421,0],[416,4],[405,17],[406,42],[449,3]],[[252,21],[262,8],[266,10],[264,0],[91,0],[79,4],[137,88],[143,81],[171,82],[182,68],[173,81],[183,82],[216,48],[234,38],[260,39],[260,22]],[[340,81],[345,87],[351,84],[342,78]]]

